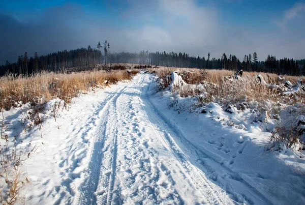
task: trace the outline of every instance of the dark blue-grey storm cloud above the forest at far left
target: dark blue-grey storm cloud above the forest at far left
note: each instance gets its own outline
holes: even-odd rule
[[[18,55],[47,54],[58,50],[78,48],[84,44],[84,33],[77,25],[81,10],[73,5],[48,9],[28,22],[0,14],[0,64],[15,62]],[[75,19],[76,21],[71,21]]]

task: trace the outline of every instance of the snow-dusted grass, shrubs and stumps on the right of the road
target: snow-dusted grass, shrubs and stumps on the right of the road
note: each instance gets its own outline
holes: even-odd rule
[[[218,72],[218,73],[217,73]],[[226,78],[228,71],[179,70],[167,68],[157,71],[160,89],[169,87],[173,93],[171,107],[177,111],[195,110],[211,102],[218,103],[229,113],[251,110],[253,122],[275,124],[268,149],[281,143],[286,148],[302,150],[303,124],[293,121],[283,125],[287,109],[297,109],[294,118],[302,116],[305,105],[304,79],[294,76],[277,76],[275,74],[257,74],[243,72],[242,76]],[[234,76],[234,75],[231,75]],[[192,98],[192,105],[177,98]],[[184,102],[181,105],[181,102]],[[295,106],[297,105],[297,106]],[[186,108],[189,106],[189,108]],[[193,107],[193,108],[191,108]],[[203,111],[202,113],[204,113]],[[300,121],[301,122],[301,121]],[[271,131],[269,130],[269,131]]]

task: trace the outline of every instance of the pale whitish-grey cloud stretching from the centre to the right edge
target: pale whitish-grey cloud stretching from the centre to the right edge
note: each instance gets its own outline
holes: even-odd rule
[[[285,12],[287,21],[300,15],[300,5]],[[219,19],[221,11],[211,6],[198,6],[193,0],[159,0],[158,18],[162,26],[147,23],[139,29],[124,30],[132,51],[175,51],[190,55],[220,57],[224,52],[235,54],[241,60],[245,54],[258,53],[260,60],[268,54],[280,57],[304,58],[301,50],[305,42],[281,31],[269,33],[238,27],[233,22]],[[146,13],[147,15],[147,13]],[[154,13],[150,13],[154,17]],[[147,17],[147,16],[146,16]],[[291,34],[292,33],[292,34]]]

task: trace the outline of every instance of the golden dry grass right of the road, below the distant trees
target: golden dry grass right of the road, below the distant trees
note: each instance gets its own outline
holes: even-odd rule
[[[152,69],[150,69],[152,70]],[[301,93],[296,93],[293,96],[281,95],[281,92],[277,88],[269,88],[261,84],[257,80],[257,75],[260,74],[267,83],[279,84],[278,75],[269,73],[255,73],[255,72],[243,72],[242,80],[225,80],[224,76],[234,75],[234,72],[228,70],[205,70],[207,73],[202,74],[202,69],[184,69],[184,68],[166,68],[161,67],[154,69],[153,71],[159,76],[160,87],[164,89],[171,82],[170,73],[175,70],[180,70],[180,73],[186,73],[184,71],[192,71],[192,74],[181,75],[189,84],[198,84],[202,80],[206,82],[207,92],[206,98],[202,101],[208,103],[216,101],[222,105],[234,104],[238,102],[249,101],[271,101],[280,102],[288,105],[294,105],[295,103],[305,103],[305,96]],[[286,80],[289,80],[293,84],[296,83],[297,76],[282,76]],[[305,78],[301,77],[305,82]],[[283,82],[283,81],[282,81]],[[188,93],[185,89],[179,91],[181,97],[194,97],[198,95],[198,92],[190,90]]]

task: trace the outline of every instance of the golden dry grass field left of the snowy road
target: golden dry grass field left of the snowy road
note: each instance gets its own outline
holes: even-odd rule
[[[43,104],[59,98],[69,103],[89,87],[107,86],[121,80],[129,80],[137,71],[90,71],[72,74],[41,73],[31,77],[8,75],[0,78],[0,106],[6,110],[31,102]],[[105,82],[107,80],[107,82]]]

